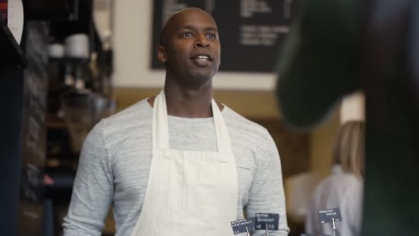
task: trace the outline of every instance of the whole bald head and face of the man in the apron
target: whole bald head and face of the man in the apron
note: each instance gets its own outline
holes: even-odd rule
[[[178,12],[163,30],[159,60],[169,77],[189,85],[212,79],[220,66],[220,41],[214,19],[202,10]]]

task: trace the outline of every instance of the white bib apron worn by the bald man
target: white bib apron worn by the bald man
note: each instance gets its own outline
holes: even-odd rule
[[[227,127],[212,100],[218,152],[169,148],[163,91],[154,99],[152,163],[132,236],[233,235],[237,173]]]

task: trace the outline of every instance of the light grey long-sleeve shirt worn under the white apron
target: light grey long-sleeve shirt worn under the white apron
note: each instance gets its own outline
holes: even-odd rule
[[[270,235],[288,235],[280,158],[272,137],[227,106],[221,114],[236,158],[237,219],[243,219],[243,208],[248,217],[278,213],[279,230]],[[169,116],[168,123],[170,148],[217,150],[212,117]],[[99,122],[81,150],[64,235],[101,235],[110,204],[116,235],[130,235],[141,213],[151,160],[152,107],[146,100]]]

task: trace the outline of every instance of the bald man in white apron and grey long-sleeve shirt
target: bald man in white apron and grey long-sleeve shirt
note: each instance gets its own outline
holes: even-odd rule
[[[101,224],[97,218],[103,215],[97,211],[101,206],[90,207],[87,204],[94,198],[95,202],[102,202],[100,205],[114,202],[116,235],[234,235],[230,223],[243,219],[245,206],[249,217],[258,212],[279,214],[279,230],[270,235],[287,235],[289,229],[280,161],[272,137],[265,129],[216,103],[212,97],[212,77],[218,71],[221,55],[214,19],[198,8],[176,12],[163,26],[157,55],[166,66],[164,90],[156,97],[140,101],[121,114],[105,119],[86,139],[69,215],[63,225],[65,235],[76,235],[76,232],[78,235],[88,235],[81,232],[96,235],[99,232]],[[130,128],[130,124],[125,122],[131,121],[131,118],[146,117],[139,115],[138,110],[148,112],[150,108],[152,157],[147,162],[149,159],[143,157],[147,145],[137,149],[125,146],[131,140],[143,139],[144,134],[136,135],[147,130],[139,130],[138,127],[143,125]],[[130,115],[131,112],[134,115]],[[228,130],[224,117],[234,117],[234,121],[228,118],[229,124],[233,125]],[[171,122],[185,123],[185,120],[185,130],[176,130],[170,125],[173,124]],[[206,125],[208,121],[210,126]],[[214,150],[190,148],[194,140],[185,144],[187,148],[179,148],[176,140],[185,137],[170,138],[177,133],[194,135],[189,129],[194,129],[195,122],[207,122],[203,123],[203,130],[212,127],[205,133],[201,130],[196,130],[196,133],[201,133],[203,139],[213,134],[214,138],[200,145],[214,142]],[[116,123],[124,123],[125,126],[116,128]],[[144,124],[148,124],[147,121]],[[125,135],[121,135],[122,132]],[[107,157],[101,168],[92,164],[91,157],[82,158],[83,153],[89,153],[97,155],[101,161],[104,158],[96,154],[98,148],[103,149],[103,155]],[[132,158],[128,159],[129,156]],[[141,156],[139,160],[138,156]],[[139,165],[139,161],[144,161],[144,164]],[[90,169],[85,170],[82,164],[90,166]],[[150,166],[147,182],[139,184],[144,179],[147,166]],[[108,184],[100,181],[100,190],[91,190],[88,194],[81,191],[98,188],[89,182],[98,183],[101,175]],[[109,189],[112,194],[105,195],[103,199],[103,189]],[[91,209],[86,210],[86,207]],[[82,215],[78,211],[85,213]],[[263,233],[265,231],[254,235]]]

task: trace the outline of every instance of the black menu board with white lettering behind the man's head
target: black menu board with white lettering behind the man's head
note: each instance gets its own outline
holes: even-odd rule
[[[177,10],[196,7],[212,14],[221,40],[220,70],[272,72],[280,46],[300,9],[301,0],[155,0],[153,48],[163,23]],[[164,68],[152,51],[152,68]]]

